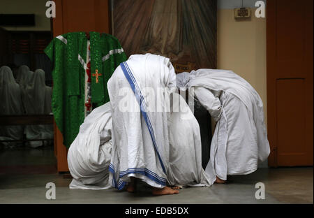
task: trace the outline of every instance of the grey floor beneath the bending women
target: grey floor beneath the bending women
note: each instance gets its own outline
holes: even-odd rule
[[[114,189],[72,190],[70,179],[55,173],[51,148],[0,152],[0,203],[313,203],[313,168],[261,168],[233,176],[227,184],[181,189],[173,196],[151,196],[140,184],[137,194]],[[47,182],[56,184],[56,200],[47,200]],[[263,182],[265,199],[255,198]]]

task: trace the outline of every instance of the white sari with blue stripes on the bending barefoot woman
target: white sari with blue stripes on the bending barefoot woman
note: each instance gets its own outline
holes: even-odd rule
[[[170,112],[157,112],[156,107],[167,105],[172,87],[176,87],[174,68],[170,59],[159,55],[132,55],[114,71],[107,83],[112,105],[112,187],[123,189],[130,177],[140,178],[152,187],[165,187]],[[165,94],[158,95],[158,90]],[[131,100],[123,109],[126,96]],[[155,107],[149,108],[152,105]]]

